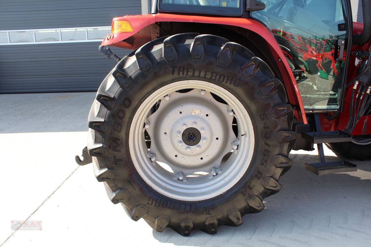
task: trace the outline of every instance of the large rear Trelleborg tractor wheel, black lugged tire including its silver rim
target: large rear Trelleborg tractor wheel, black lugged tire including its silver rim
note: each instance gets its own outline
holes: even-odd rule
[[[280,190],[292,123],[267,64],[224,38],[185,33],[145,44],[108,74],[89,114],[88,150],[132,220],[214,234]]]

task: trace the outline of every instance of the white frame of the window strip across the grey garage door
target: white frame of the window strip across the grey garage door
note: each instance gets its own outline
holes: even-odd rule
[[[21,30],[0,30],[0,32],[6,32],[8,43],[0,43],[0,46],[6,46],[6,45],[18,45],[18,44],[55,44],[55,43],[81,43],[81,42],[97,42],[102,41],[102,39],[94,39],[94,40],[88,40],[88,29],[111,29],[111,26],[99,26],[99,27],[63,27],[63,28],[50,28],[50,29],[21,29]],[[85,40],[62,40],[62,31],[61,30],[85,30]],[[58,30],[59,31],[59,40],[60,41],[39,41],[36,42],[36,32],[35,31],[47,31],[47,30]],[[24,31],[32,31],[33,36],[33,42],[17,42],[17,43],[10,43],[10,33],[12,32],[24,32]],[[71,32],[73,32],[71,31]],[[109,33],[109,30],[107,30],[107,34]]]

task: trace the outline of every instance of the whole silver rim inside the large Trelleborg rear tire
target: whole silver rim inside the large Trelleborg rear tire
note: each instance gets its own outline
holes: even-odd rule
[[[179,92],[184,89],[192,90]],[[189,128],[198,130],[192,133],[199,142],[192,142]],[[151,137],[150,148],[145,133]],[[252,121],[243,104],[207,81],[177,81],[156,90],[139,106],[129,130],[129,152],[139,175],[154,190],[177,200],[206,200],[225,193],[249,168],[254,146]]]

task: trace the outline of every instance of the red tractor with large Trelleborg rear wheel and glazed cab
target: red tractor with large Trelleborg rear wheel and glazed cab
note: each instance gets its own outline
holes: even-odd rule
[[[371,158],[371,2],[154,0],[152,14],[116,17],[99,50],[118,64],[89,113],[93,162],[110,200],[156,231],[183,236],[264,209],[290,151],[326,162]],[[367,13],[367,14],[366,14]],[[120,59],[111,46],[133,50]],[[91,160],[92,158],[92,160]]]

